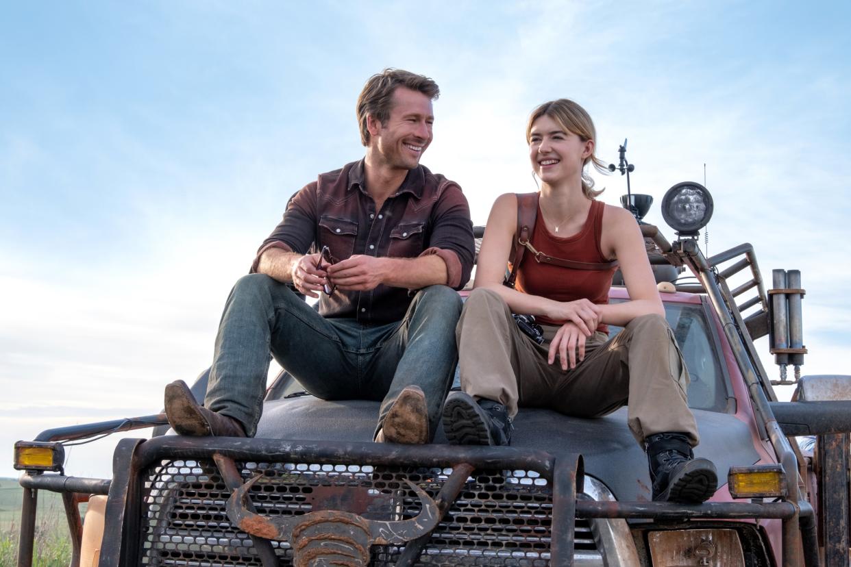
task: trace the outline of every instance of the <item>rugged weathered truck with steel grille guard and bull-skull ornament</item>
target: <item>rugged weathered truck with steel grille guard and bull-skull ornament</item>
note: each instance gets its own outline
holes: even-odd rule
[[[447,445],[440,430],[431,445],[376,444],[377,402],[318,400],[284,371],[253,439],[167,434],[159,413],[17,443],[18,564],[32,562],[37,493],[54,490],[73,566],[848,565],[851,377],[768,377],[758,337],[784,370],[806,353],[800,273],[774,270],[766,291],[751,245],[705,257],[689,225],[707,210],[688,206],[695,195],[711,213],[700,184],[663,200],[673,241],[642,230],[691,375],[695,454],[720,477],[709,502],[652,502],[625,409],[593,420],[524,409],[505,447]],[[645,197],[626,200],[638,218]],[[198,400],[206,382],[192,386]],[[776,383],[797,384],[792,401]],[[64,442],[142,428],[151,438],[117,444],[111,479],[63,472]]]

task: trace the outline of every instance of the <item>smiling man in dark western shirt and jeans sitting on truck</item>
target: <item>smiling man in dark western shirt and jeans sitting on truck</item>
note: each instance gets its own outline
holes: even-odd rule
[[[366,155],[290,199],[227,300],[205,407],[185,383],[166,387],[176,432],[254,435],[271,351],[323,400],[382,400],[376,441],[433,437],[457,360],[453,288],[474,252],[460,187],[420,165],[438,95],[408,71],[370,77],[357,100]]]

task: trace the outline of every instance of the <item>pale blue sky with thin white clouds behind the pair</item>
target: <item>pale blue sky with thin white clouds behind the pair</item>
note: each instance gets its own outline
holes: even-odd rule
[[[477,224],[534,189],[524,126],[547,99],[585,106],[604,161],[629,138],[657,202],[706,163],[710,252],[802,269],[803,370],[851,373],[848,29],[847,2],[3,3],[0,445],[154,413],[208,366],[288,196],[363,155],[355,99],[386,66],[440,84],[423,162]],[[69,472],[108,476],[112,446]]]

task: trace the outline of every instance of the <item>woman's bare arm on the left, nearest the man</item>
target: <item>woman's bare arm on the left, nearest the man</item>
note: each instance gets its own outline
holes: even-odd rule
[[[603,306],[595,305],[586,299],[563,303],[517,292],[502,285],[505,280],[505,265],[508,263],[511,249],[515,246],[516,231],[517,196],[513,193],[500,195],[494,202],[488,224],[485,225],[473,287],[486,287],[497,292],[505,303],[508,303],[513,313],[545,315],[553,320],[571,320],[586,336],[591,336],[597,328]]]

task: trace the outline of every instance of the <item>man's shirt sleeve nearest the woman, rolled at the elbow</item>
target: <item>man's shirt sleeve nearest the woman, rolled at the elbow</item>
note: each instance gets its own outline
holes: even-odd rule
[[[470,205],[461,188],[448,183],[432,209],[429,247],[420,256],[436,254],[446,264],[447,285],[460,290],[470,280],[476,244]]]

